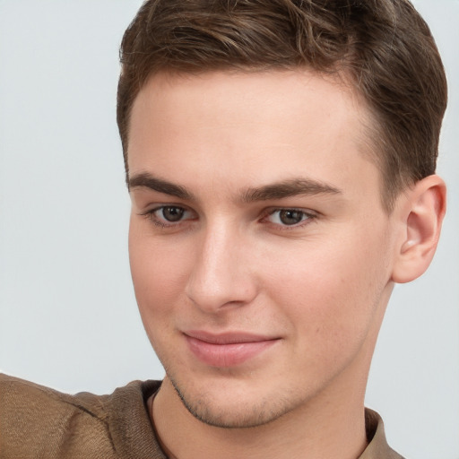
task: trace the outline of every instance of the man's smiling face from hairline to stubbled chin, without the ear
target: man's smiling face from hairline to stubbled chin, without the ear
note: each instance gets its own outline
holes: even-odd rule
[[[135,294],[199,419],[258,425],[363,396],[393,244],[366,114],[307,70],[159,74],[135,100]]]

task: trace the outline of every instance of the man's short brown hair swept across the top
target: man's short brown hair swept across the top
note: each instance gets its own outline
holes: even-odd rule
[[[344,72],[367,101],[388,211],[404,186],[435,172],[446,76],[428,25],[407,0],[148,0],[120,59],[126,177],[131,108],[152,74],[297,67]]]

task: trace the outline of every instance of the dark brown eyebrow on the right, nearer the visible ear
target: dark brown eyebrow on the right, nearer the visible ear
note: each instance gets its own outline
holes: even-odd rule
[[[241,201],[253,203],[296,195],[342,195],[342,190],[311,178],[293,178],[266,186],[247,188],[241,195]]]

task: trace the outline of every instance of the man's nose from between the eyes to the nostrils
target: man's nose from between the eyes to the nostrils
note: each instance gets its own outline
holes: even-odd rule
[[[214,226],[195,247],[195,264],[186,283],[186,295],[206,313],[240,307],[255,299],[253,253],[248,241],[228,226]]]

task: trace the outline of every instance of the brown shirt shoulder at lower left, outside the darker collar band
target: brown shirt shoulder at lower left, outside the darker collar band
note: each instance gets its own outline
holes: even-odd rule
[[[84,454],[95,446],[113,456],[104,397],[68,395],[28,381],[0,376],[0,457],[58,457]]]

